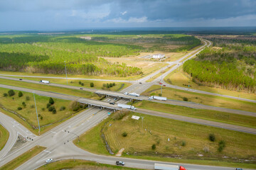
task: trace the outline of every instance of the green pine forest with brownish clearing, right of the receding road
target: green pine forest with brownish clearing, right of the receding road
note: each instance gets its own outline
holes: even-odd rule
[[[221,44],[206,48],[195,59],[186,61],[183,71],[197,84],[255,93],[255,64],[254,45]]]

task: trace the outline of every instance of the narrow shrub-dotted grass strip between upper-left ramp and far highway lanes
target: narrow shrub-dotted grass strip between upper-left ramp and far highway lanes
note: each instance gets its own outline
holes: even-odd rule
[[[16,77],[16,78],[21,78],[21,77]],[[25,77],[22,79],[29,79],[29,80],[34,80],[34,81],[41,81],[42,78],[30,78],[30,77]],[[50,81],[50,83],[54,84],[67,84],[66,79],[47,79]],[[79,84],[79,81],[83,83],[84,85],[82,86]],[[94,84],[94,87],[90,87],[90,83]],[[110,88],[107,88],[106,86],[103,86],[103,84],[115,84],[115,86],[112,86]],[[86,88],[91,88],[91,89],[104,89],[104,90],[110,90],[110,91],[119,91],[121,89],[127,88],[127,86],[130,86],[131,84],[129,83],[123,83],[123,82],[112,82],[112,81],[90,81],[90,80],[69,80],[68,79],[68,85],[69,86],[80,86],[80,87],[86,87]]]

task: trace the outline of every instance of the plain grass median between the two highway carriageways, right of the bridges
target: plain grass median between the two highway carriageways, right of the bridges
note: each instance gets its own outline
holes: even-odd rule
[[[152,101],[142,101],[139,103],[134,103],[134,106],[137,108],[144,108],[152,111],[171,113],[175,115],[184,115],[192,118],[200,118],[220,123],[228,123],[232,125],[256,128],[256,118],[248,115],[238,115],[220,111],[187,108],[183,106],[174,106],[164,103],[156,103]]]

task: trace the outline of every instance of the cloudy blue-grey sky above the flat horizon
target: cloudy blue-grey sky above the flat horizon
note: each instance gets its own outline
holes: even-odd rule
[[[256,0],[0,0],[0,31],[256,26]]]

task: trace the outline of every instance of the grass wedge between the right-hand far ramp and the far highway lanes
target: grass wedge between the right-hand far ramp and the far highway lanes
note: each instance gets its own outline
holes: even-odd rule
[[[225,98],[220,96],[212,96],[208,94],[198,94],[191,91],[182,91],[178,89],[172,89],[169,87],[163,87],[162,93],[164,97],[183,101],[183,97],[188,98],[188,101],[194,103],[200,103],[208,106],[216,106],[220,108],[232,108],[242,111],[252,111],[256,113],[256,103],[248,101],[240,101],[232,98]],[[142,95],[146,96],[158,96],[161,94],[161,86],[154,85],[144,91]]]

